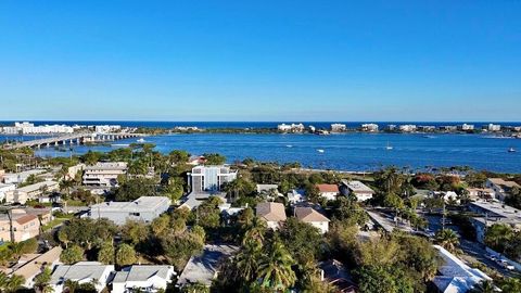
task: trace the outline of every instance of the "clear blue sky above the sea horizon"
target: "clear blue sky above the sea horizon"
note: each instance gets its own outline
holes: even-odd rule
[[[521,120],[521,1],[0,1],[0,120]]]

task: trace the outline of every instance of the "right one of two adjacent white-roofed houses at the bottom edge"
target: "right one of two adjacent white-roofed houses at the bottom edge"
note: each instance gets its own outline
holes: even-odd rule
[[[130,266],[117,271],[112,281],[113,293],[140,289],[143,292],[166,290],[176,275],[173,266]]]

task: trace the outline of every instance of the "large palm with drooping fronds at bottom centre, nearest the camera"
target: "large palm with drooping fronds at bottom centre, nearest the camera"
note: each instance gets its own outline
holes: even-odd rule
[[[262,279],[262,286],[277,291],[284,291],[296,281],[296,276],[291,266],[295,262],[281,242],[274,242],[260,258],[258,276]]]

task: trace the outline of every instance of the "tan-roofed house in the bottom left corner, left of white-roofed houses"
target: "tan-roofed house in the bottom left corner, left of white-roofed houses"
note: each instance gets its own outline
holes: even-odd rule
[[[33,289],[35,285],[35,277],[40,275],[46,267],[54,267],[60,263],[62,247],[55,246],[42,254],[24,254],[18,262],[5,272],[9,276],[16,275],[23,277],[25,283],[23,286]]]

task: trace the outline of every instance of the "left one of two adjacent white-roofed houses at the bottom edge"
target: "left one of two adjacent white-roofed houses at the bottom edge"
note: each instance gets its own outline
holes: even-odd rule
[[[74,265],[56,266],[49,282],[54,292],[62,292],[66,280],[79,284],[96,282],[94,286],[101,292],[114,270],[113,265],[102,265],[98,262],[79,262]]]

